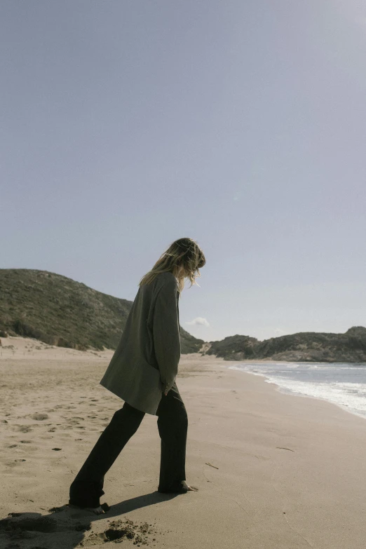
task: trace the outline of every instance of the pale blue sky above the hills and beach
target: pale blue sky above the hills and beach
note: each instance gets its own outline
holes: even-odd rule
[[[133,300],[189,236],[194,336],[366,325],[365,5],[3,0],[0,25],[1,268]]]

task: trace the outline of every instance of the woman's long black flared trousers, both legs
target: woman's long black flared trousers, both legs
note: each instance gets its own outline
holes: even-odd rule
[[[100,506],[104,494],[104,475],[113,465],[128,440],[136,433],[145,412],[124,403],[95,443],[69,489],[69,503],[80,507]],[[156,410],[161,438],[158,492],[179,492],[186,480],[186,444],[188,418],[177,384],[168,395],[162,393]]]

